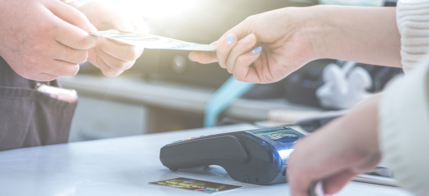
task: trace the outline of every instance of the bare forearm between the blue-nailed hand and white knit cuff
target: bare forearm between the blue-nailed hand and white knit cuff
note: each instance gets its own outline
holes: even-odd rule
[[[306,24],[315,58],[402,67],[396,8],[314,6]]]

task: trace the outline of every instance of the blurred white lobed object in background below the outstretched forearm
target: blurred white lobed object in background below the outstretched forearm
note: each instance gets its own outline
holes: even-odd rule
[[[355,62],[346,62],[341,68],[335,63],[323,70],[324,84],[316,90],[320,106],[331,109],[349,109],[364,100],[371,93],[369,73],[362,67],[354,67]]]

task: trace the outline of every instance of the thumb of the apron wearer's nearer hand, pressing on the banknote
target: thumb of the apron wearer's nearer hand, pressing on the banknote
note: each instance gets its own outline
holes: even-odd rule
[[[98,32],[97,28],[89,22],[88,18],[82,12],[65,3],[55,1],[55,3],[46,6],[46,8],[63,21],[79,27],[88,33],[95,34]]]

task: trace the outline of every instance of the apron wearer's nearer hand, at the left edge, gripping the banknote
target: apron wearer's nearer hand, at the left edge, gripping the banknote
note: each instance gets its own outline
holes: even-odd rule
[[[74,75],[97,37],[78,10],[58,0],[0,0],[0,56],[20,76],[39,81]]]

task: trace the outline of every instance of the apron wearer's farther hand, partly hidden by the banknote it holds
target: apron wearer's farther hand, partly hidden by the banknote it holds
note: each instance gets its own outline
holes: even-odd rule
[[[78,8],[100,31],[147,32],[141,16],[122,13],[101,3],[87,3]],[[105,37],[98,37],[97,46],[89,50],[88,61],[106,76],[117,76],[133,66],[143,53],[142,46],[133,46]]]

